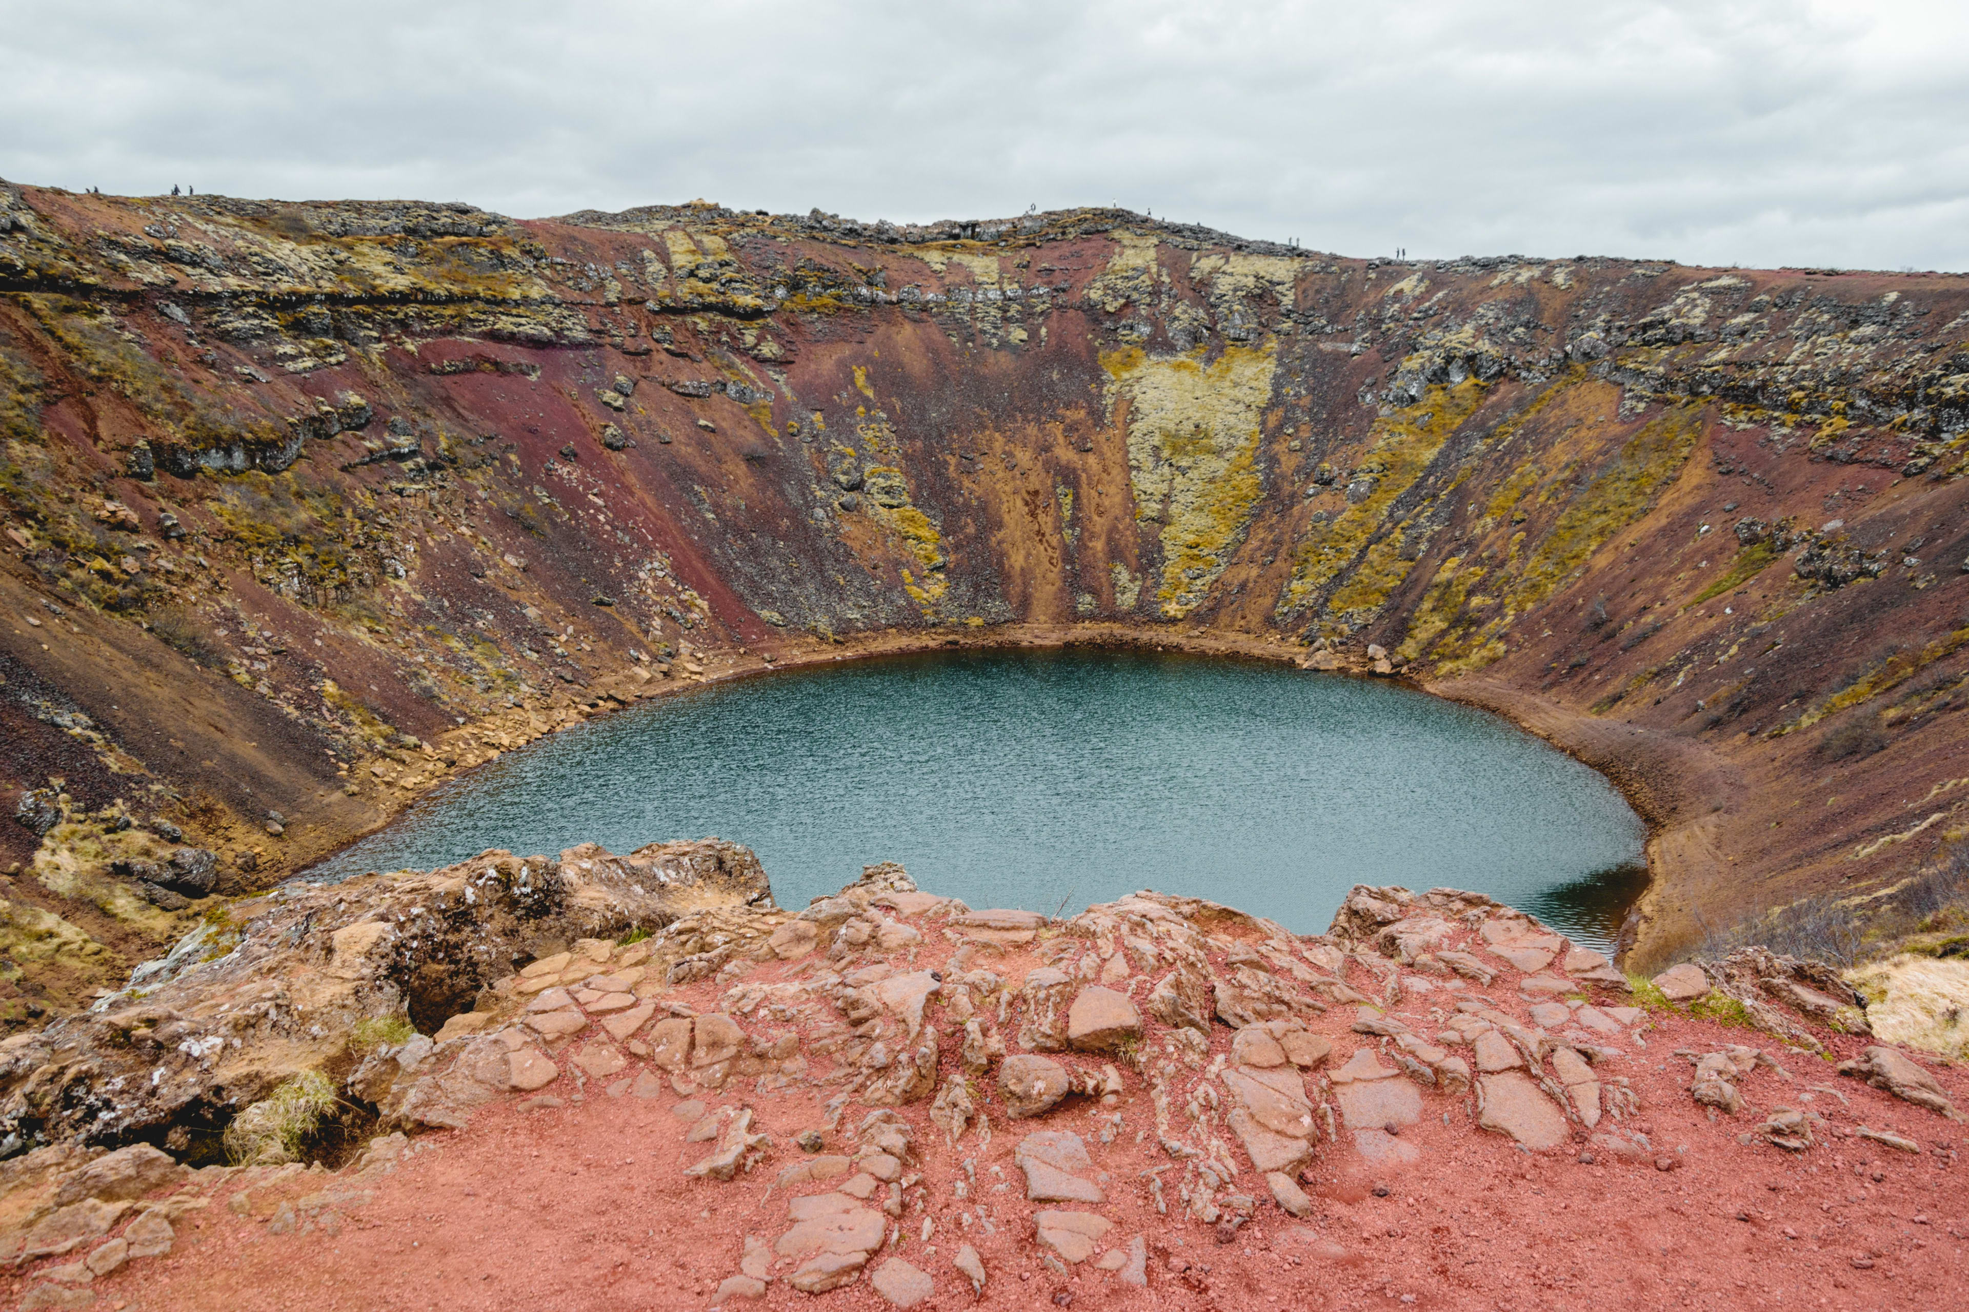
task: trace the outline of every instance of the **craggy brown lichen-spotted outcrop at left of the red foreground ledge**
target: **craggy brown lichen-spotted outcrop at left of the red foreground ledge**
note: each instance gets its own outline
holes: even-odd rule
[[[398,1082],[445,1066],[410,1115],[451,1123],[475,1100],[553,1078],[524,1043],[473,1037],[494,985],[530,1009],[549,999],[532,1029],[561,1035],[557,1017],[581,1015],[581,1003],[534,987],[559,978],[543,964],[601,978],[612,940],[632,930],[770,907],[758,860],[717,840],[628,856],[593,844],[559,858],[484,852],[417,875],[289,883],[201,928],[193,952],[140,968],[136,987],[0,1044],[0,1125],[16,1143],[156,1139],[183,1153],[291,1076],[347,1062],[347,1092],[366,1103],[390,1103]],[[705,970],[707,956],[719,948],[673,970]],[[534,974],[514,974],[528,962]],[[587,1005],[614,1015],[616,997],[634,1001],[608,991]]]

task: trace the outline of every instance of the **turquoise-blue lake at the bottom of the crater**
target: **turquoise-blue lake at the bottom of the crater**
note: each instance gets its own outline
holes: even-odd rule
[[[973,907],[1071,915],[1148,887],[1315,932],[1355,883],[1453,885],[1597,946],[1644,840],[1601,775],[1410,688],[994,651],[644,702],[506,753],[303,877],[707,834],[758,852],[786,907],[902,862]]]

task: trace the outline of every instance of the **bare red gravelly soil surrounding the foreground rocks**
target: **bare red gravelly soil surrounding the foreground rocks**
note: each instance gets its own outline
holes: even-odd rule
[[[925,944],[918,968],[937,966],[947,956],[941,948]],[[1008,982],[1034,964],[1030,956],[990,962]],[[768,964],[752,978],[799,970]],[[1353,968],[1353,976],[1365,972]],[[1530,1003],[1516,982],[1502,972],[1489,989],[1408,991],[1396,1011],[1422,1023],[1467,999],[1524,1017]],[[717,995],[717,985],[699,984],[667,997],[711,1009]],[[1626,999],[1615,989],[1599,1001]],[[1309,1025],[1333,1041],[1327,1070],[1376,1043],[1349,1029],[1353,1015],[1335,1007]],[[1231,1031],[1219,1025],[1213,1056],[1229,1043]],[[1691,1100],[1683,1056],[1727,1044],[1758,1046],[1776,1062],[1745,1078],[1735,1117]],[[1049,1115],[1020,1121],[992,1105],[988,1145],[973,1129],[951,1149],[925,1102],[904,1105],[916,1159],[904,1182],[920,1174],[921,1184],[908,1188],[884,1247],[839,1290],[809,1296],[774,1279],[764,1304],[819,1298],[837,1308],[888,1308],[868,1273],[900,1257],[931,1277],[933,1292],[918,1304],[927,1308],[1969,1306],[1965,1131],[1837,1076],[1833,1062],[1857,1054],[1863,1041],[1829,1035],[1829,1056],[1815,1056],[1768,1035],[1654,1013],[1615,1046],[1622,1056],[1605,1058],[1601,1072],[1626,1076],[1638,1094],[1638,1111],[1617,1131],[1646,1137],[1638,1155],[1609,1151],[1585,1131],[1557,1151],[1530,1153],[1477,1129],[1469,1096],[1426,1090],[1422,1121],[1400,1131],[1402,1143],[1420,1149],[1414,1164],[1374,1166],[1321,1135],[1303,1176],[1315,1214],[1286,1216],[1246,1168],[1235,1186],[1260,1202],[1235,1233],[1183,1218],[1174,1188],[1170,1214],[1156,1214],[1144,1172],[1170,1159],[1132,1072],[1114,1107],[1069,1098]],[[679,1117],[683,1096],[658,1090],[654,1078],[644,1082],[654,1096],[628,1092],[622,1086],[636,1064],[610,1080],[614,1092],[597,1080],[577,1084],[565,1060],[561,1068],[530,1100],[506,1098],[461,1133],[413,1141],[388,1170],[315,1168],[258,1186],[268,1168],[226,1178],[213,1206],[177,1223],[169,1257],[96,1281],[95,1306],[703,1308],[738,1273],[748,1235],[770,1245],[788,1229],[790,1194],[829,1188],[774,1186],[786,1166],[809,1161],[794,1137],[825,1127],[825,1080],[780,1094],[693,1094],[713,1111],[750,1105],[754,1129],[772,1135],[756,1170],[719,1184],[685,1176],[715,1145],[685,1141],[703,1111],[683,1107]],[[1969,1102],[1959,1070],[1934,1074],[1951,1098]],[[543,1098],[559,1105],[541,1107]],[[1813,1147],[1794,1155],[1752,1133],[1780,1105],[1821,1117]],[[849,1107],[839,1129],[823,1129],[827,1153],[853,1151],[862,1113]],[[1603,1119],[1601,1129],[1609,1127]],[[1861,1127],[1904,1135],[1916,1151],[1861,1137]],[[1026,1202],[1014,1166],[1016,1145],[1038,1129],[1069,1129],[1087,1141],[1107,1192],[1099,1212],[1116,1223],[1109,1247],[1148,1239],[1146,1288],[1122,1284],[1095,1261],[1065,1267],[1067,1275],[1046,1265],[1032,1218],[1059,1204]],[[880,1200],[878,1192],[870,1206]],[[963,1243],[988,1273],[981,1298],[951,1265]],[[774,1275],[786,1271],[782,1261]],[[32,1284],[30,1275],[14,1288]]]

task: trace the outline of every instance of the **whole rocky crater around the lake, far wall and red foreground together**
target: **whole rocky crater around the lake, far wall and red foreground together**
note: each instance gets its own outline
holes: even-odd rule
[[[1965,338],[1937,273],[0,183],[24,1306],[286,1304],[256,1261],[518,1306],[482,1233],[520,1218],[463,1200],[520,1151],[606,1166],[522,1176],[557,1218],[608,1200],[543,1245],[583,1306],[1185,1306],[1319,1263],[1335,1302],[1638,1304],[1741,1298],[1758,1245],[1833,1302],[1959,1300]],[[792,917],[689,842],[282,883],[667,688],[1069,643],[1400,679],[1573,753],[1650,824],[1622,970],[1447,889],[1302,936],[1168,893],[973,911],[894,867]],[[1055,1125],[1014,1151],[1034,1100]],[[301,1168],[325,1123],[360,1149],[333,1178]],[[1014,1170],[1061,1206],[1010,1206]],[[1477,1180],[1524,1196],[1453,1216]],[[447,1188],[480,1237],[415,1220]],[[1550,1206],[1589,1245],[1642,1198],[1682,1220],[1624,1225],[1626,1265],[1496,1261]]]

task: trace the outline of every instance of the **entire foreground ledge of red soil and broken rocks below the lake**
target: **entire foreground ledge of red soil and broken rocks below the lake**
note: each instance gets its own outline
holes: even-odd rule
[[[289,885],[6,1041],[20,1306],[1969,1292],[1969,1090],[1811,964],[1630,985],[1453,889],[1357,887],[1317,936],[973,911],[898,865],[762,891],[721,844]],[[469,1007],[425,987],[413,1027],[433,978]],[[177,1161],[193,1121],[236,1164]]]

